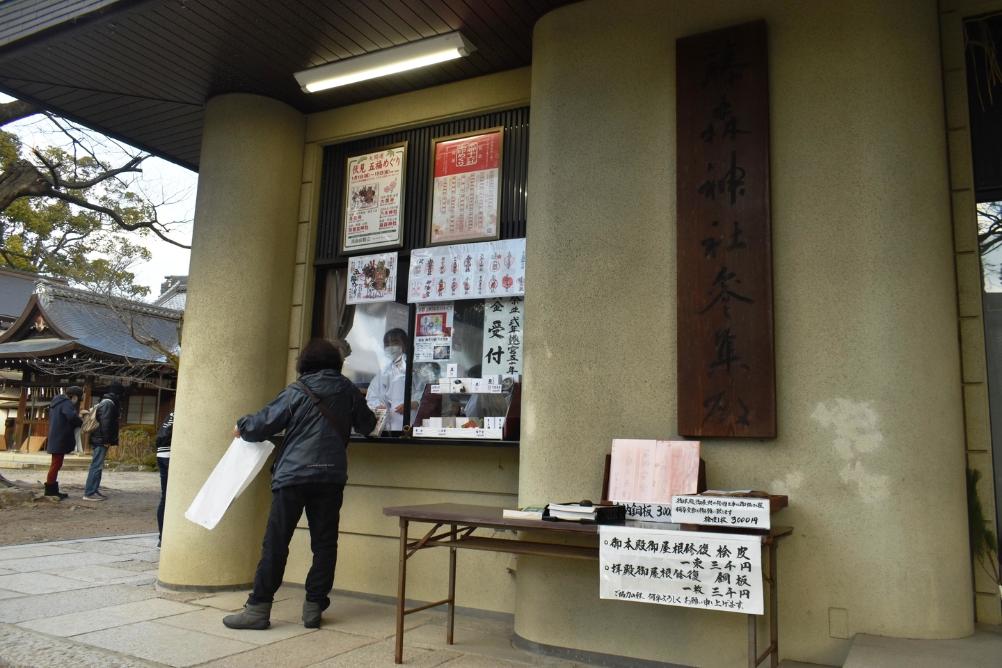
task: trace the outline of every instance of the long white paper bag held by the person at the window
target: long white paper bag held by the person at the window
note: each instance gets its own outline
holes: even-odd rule
[[[271,441],[248,443],[243,439],[233,439],[185,511],[184,517],[205,529],[213,529],[233,499],[243,494],[243,490],[247,489],[250,481],[264,468],[273,450],[275,444]]]

